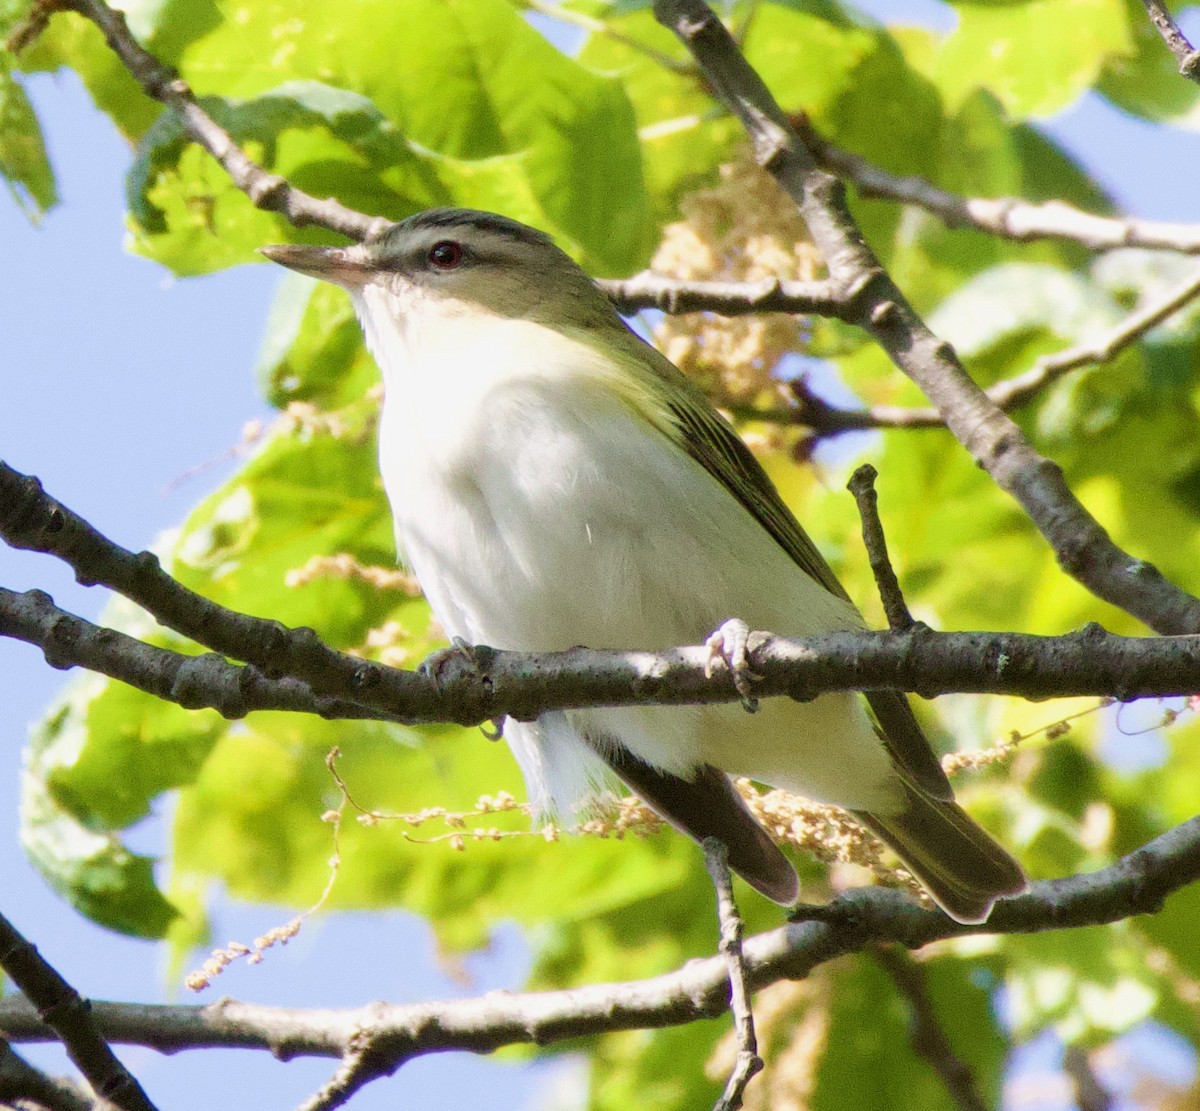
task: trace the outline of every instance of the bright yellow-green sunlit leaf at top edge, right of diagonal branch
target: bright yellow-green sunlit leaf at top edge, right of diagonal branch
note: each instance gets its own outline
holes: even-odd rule
[[[1133,52],[1124,0],[954,7],[959,23],[938,59],[938,85],[952,103],[988,89],[1018,120],[1066,108],[1111,58]]]

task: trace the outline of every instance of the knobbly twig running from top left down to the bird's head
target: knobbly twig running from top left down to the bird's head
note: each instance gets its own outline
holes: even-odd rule
[[[146,96],[175,113],[184,130],[221,163],[229,180],[257,208],[278,212],[298,228],[316,224],[350,239],[365,239],[388,226],[382,217],[365,216],[331,197],[318,199],[305,193],[247,157],[229,132],[197,103],[187,82],[143,49],[130,32],[124,13],[109,7],[104,0],[53,0],[48,6],[52,10],[71,8],[96,24],[109,49]]]

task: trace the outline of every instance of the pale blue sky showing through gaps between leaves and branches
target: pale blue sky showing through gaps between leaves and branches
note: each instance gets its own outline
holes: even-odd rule
[[[917,5],[920,7],[922,5]],[[878,8],[892,5],[878,4]],[[59,174],[61,206],[31,228],[0,203],[0,456],[127,547],[149,544],[214,488],[228,458],[178,485],[198,464],[222,460],[247,420],[265,416],[252,366],[278,275],[245,266],[176,282],[122,250],[122,175],[128,151],[71,76],[38,77],[31,90]],[[1088,100],[1048,130],[1085,161],[1135,214],[1200,221],[1200,136],[1164,133]],[[1114,158],[1112,151],[1121,157]],[[46,557],[0,547],[0,583],[40,587],[95,618],[103,595],[73,583]],[[4,912],[80,991],[94,998],[170,996],[157,947],[97,929],[47,890],[17,845],[19,751],[28,725],[65,678],[38,654],[0,641],[0,877]],[[152,851],[161,822],[138,835]],[[282,908],[218,900],[216,941],[250,941],[289,917]],[[364,960],[364,954],[370,959]],[[358,1005],[377,997],[420,1001],[516,987],[527,954],[502,933],[494,951],[467,962],[474,983],[440,974],[424,924],[402,913],[331,915],[310,924],[257,968],[235,968],[209,997],[295,1005]],[[23,1050],[52,1070],[54,1047]],[[162,1057],[122,1051],[160,1105],[287,1107],[332,1071],[334,1062],[283,1065],[262,1053]],[[431,1101],[439,1106],[532,1106],[569,1065],[520,1069],[468,1055],[426,1058],[361,1093],[356,1109]],[[437,1093],[431,1100],[431,1093]]]

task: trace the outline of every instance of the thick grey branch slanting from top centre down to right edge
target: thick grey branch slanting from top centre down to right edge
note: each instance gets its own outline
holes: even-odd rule
[[[854,300],[853,323],[920,386],[972,458],[1020,503],[1063,570],[1158,632],[1200,630],[1200,599],[1112,542],[1068,488],[1062,469],[1033,450],[966,373],[954,349],[907,304],[863,240],[846,206],[845,187],[817,168],[713,11],[703,0],[655,0],[654,11],[742,121],[758,163],[796,200],[830,277]]]

